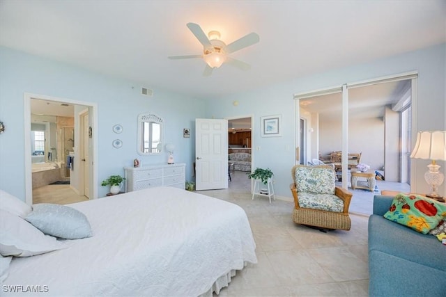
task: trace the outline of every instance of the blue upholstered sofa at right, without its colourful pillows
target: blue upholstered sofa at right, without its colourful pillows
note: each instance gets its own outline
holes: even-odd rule
[[[446,296],[446,246],[383,215],[393,197],[375,195],[369,218],[369,296]]]

